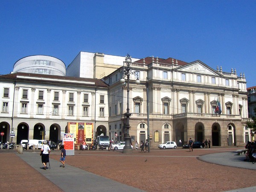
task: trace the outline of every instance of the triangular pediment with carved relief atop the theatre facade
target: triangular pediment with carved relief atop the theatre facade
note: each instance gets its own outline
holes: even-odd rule
[[[204,75],[207,74],[212,76],[222,76],[221,73],[218,73],[218,71],[213,70],[211,67],[207,66],[201,61],[195,61],[185,66],[178,67],[176,70],[188,73],[201,73]]]

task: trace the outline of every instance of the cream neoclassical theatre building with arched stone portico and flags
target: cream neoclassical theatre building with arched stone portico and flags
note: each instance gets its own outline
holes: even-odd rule
[[[137,72],[137,76],[130,76],[129,84],[132,142],[147,138],[147,119],[153,147],[169,140],[181,139],[187,143],[190,137],[194,141],[210,140],[215,146],[239,146],[251,140],[250,130],[245,127],[248,119],[246,80],[244,74],[238,76],[236,69],[226,73],[222,67],[213,70],[201,61],[186,63],[154,57],[133,61],[131,69]],[[122,76],[121,67],[104,78],[109,85],[109,134],[112,137],[125,134],[127,86],[120,84]],[[139,85],[135,84],[137,77]],[[216,113],[216,108],[221,109],[221,113]]]

